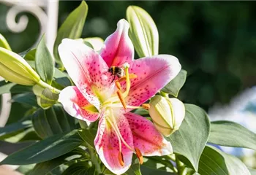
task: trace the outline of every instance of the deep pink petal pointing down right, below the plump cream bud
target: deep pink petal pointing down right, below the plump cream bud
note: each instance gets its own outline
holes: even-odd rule
[[[142,155],[170,155],[173,153],[173,148],[170,142],[154,128],[153,123],[138,114],[127,113],[129,126],[132,130],[133,145],[140,149]]]

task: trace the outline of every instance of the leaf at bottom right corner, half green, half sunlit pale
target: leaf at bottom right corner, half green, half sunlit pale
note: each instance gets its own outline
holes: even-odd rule
[[[250,175],[249,170],[241,160],[210,146],[206,146],[203,150],[198,172],[200,174]]]

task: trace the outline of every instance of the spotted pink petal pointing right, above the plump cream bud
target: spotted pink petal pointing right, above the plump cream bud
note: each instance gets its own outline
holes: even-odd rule
[[[140,106],[164,88],[179,71],[181,71],[181,64],[171,55],[154,55],[132,61],[129,74],[136,74],[137,78],[131,79],[127,104]]]

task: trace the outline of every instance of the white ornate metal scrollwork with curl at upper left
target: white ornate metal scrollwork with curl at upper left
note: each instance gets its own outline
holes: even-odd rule
[[[15,18],[20,12],[29,12],[39,20],[39,39],[45,34],[46,44],[50,51],[53,50],[54,40],[58,28],[59,0],[0,0],[0,3],[10,6],[6,16],[7,27],[14,33],[20,33],[26,29],[29,18],[22,15],[16,23]],[[37,42],[35,44],[37,44]],[[0,81],[3,80],[0,77]],[[1,96],[0,127],[3,127],[10,115],[10,93]]]

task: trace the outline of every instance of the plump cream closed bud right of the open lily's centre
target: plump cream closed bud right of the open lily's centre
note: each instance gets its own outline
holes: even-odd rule
[[[149,114],[157,130],[170,136],[181,126],[185,117],[185,106],[177,98],[154,96],[151,98]]]

